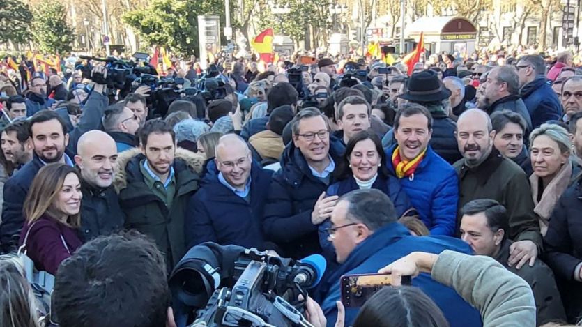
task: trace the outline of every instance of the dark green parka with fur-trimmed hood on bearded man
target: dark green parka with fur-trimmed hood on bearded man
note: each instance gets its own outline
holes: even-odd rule
[[[183,149],[177,149],[174,158],[176,194],[168,208],[148,187],[141,174],[139,149],[121,153],[116,162],[114,186],[119,195],[121,209],[125,213],[125,228],[136,229],[153,238],[158,249],[166,255],[169,270],[186,252],[184,216],[187,201],[198,189],[199,173],[204,157]]]

